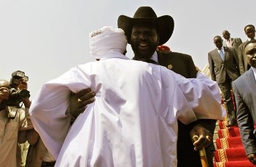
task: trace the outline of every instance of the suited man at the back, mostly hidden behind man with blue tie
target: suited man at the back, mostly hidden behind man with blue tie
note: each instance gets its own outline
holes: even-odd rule
[[[238,47],[241,44],[243,44],[243,42],[241,41],[241,38],[230,38],[230,33],[228,32],[228,30],[223,30],[222,36],[223,38],[225,38],[225,40],[223,41],[223,46],[233,47],[236,64],[238,65],[239,64]]]

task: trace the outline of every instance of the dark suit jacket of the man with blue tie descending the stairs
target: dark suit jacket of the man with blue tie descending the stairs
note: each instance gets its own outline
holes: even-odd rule
[[[238,65],[233,54],[233,49],[224,47],[225,60],[220,57],[218,49],[214,49],[208,53],[209,70],[213,81],[217,83],[225,83],[229,77],[234,81],[240,76]],[[228,76],[227,76],[228,75]]]

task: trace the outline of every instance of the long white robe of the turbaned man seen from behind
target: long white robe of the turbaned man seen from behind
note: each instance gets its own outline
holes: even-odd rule
[[[177,166],[177,119],[224,116],[217,83],[199,80],[115,55],[45,83],[32,100],[31,120],[58,157],[55,166]],[[69,129],[70,90],[88,87],[95,102]]]

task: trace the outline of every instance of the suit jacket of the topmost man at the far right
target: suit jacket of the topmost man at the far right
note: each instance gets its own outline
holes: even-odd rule
[[[239,60],[239,70],[241,75],[249,70],[248,63],[247,63],[247,55],[244,53],[244,46],[247,44],[248,40],[245,41],[238,47],[238,60]]]

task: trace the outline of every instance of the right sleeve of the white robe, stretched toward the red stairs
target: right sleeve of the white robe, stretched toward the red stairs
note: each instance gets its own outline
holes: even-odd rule
[[[212,81],[203,73],[198,73],[196,78],[189,79],[173,71],[171,74],[198,119],[221,120],[225,117],[226,112],[221,105],[220,89],[216,81]]]

